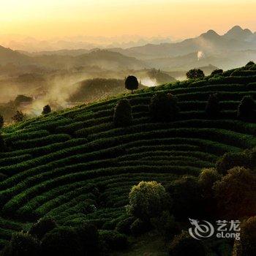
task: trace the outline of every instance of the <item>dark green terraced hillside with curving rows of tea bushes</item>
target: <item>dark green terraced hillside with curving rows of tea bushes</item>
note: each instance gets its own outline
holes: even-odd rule
[[[151,122],[155,91],[175,94],[181,113],[171,123]],[[208,119],[209,94],[218,92],[222,118]],[[245,95],[256,95],[256,66],[144,89],[107,101],[6,127],[9,151],[0,153],[0,244],[40,217],[61,225],[89,220],[114,229],[125,213],[128,193],[139,181],[168,184],[186,173],[197,176],[227,151],[256,146],[256,124],[239,121]],[[132,105],[133,124],[115,128],[113,108]]]

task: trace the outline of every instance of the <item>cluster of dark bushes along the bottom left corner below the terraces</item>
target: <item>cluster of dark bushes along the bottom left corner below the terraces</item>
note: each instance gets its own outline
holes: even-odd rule
[[[94,225],[58,226],[51,218],[39,219],[29,232],[13,233],[2,256],[100,256],[127,246],[127,236],[116,231],[99,232]]]

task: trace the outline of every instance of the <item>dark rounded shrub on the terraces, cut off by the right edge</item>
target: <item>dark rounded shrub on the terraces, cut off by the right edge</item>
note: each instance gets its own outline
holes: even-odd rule
[[[238,118],[244,121],[255,121],[255,101],[250,96],[244,96],[238,105]]]

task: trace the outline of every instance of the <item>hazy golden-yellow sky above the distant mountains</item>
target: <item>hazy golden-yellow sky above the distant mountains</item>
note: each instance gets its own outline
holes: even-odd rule
[[[256,31],[256,0],[0,0],[0,34],[192,37],[240,25]]]

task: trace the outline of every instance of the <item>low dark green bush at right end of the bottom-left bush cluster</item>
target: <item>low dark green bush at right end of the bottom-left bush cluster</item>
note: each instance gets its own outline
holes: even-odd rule
[[[113,230],[101,230],[99,238],[107,250],[119,250],[127,247],[127,236]]]

